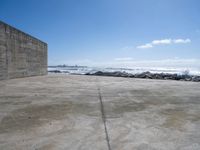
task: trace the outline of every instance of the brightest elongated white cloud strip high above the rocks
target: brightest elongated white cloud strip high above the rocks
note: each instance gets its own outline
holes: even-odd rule
[[[186,44],[186,43],[191,43],[190,39],[161,39],[161,40],[153,40],[151,43],[147,43],[144,45],[139,45],[137,48],[139,49],[147,49],[147,48],[152,48],[156,45],[169,45],[169,44]]]

